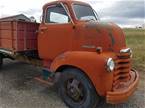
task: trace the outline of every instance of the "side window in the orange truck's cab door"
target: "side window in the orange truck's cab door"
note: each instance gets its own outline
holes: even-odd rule
[[[46,11],[46,23],[68,23],[70,19],[61,5],[48,7]]]

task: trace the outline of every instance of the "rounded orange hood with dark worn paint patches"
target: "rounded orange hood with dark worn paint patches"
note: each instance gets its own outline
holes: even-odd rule
[[[103,51],[119,52],[126,47],[123,30],[114,23],[83,22],[78,24],[77,44],[81,50],[102,47]]]

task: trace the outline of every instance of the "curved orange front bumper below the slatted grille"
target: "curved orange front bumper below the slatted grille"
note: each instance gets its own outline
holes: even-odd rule
[[[139,82],[139,74],[137,71],[130,72],[131,79],[129,82],[123,82],[119,89],[107,92],[107,103],[118,104],[126,101],[136,90]]]

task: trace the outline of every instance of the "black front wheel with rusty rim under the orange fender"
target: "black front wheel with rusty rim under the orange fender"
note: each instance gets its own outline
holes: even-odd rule
[[[70,108],[95,108],[100,97],[82,71],[65,69],[59,80],[59,94]]]

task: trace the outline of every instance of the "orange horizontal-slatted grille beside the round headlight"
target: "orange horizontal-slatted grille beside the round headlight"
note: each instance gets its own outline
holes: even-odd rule
[[[116,68],[114,72],[113,90],[117,90],[121,83],[130,80],[131,59],[130,51],[121,52],[117,55]]]

